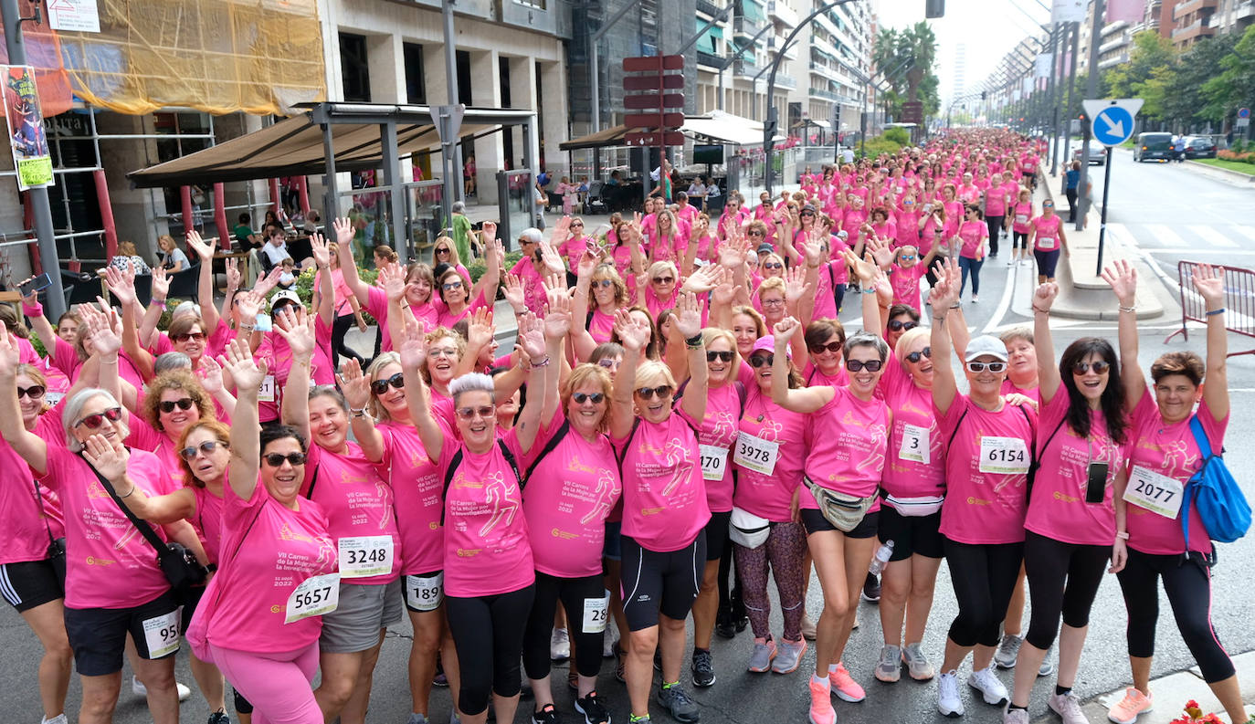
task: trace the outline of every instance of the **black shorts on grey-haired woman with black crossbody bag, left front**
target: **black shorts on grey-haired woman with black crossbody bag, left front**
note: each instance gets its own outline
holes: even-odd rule
[[[168,619],[171,614],[173,619]],[[159,619],[166,620],[157,621]],[[173,649],[152,656],[144,631],[146,621],[154,621],[149,625],[153,641]],[[173,594],[166,591],[152,601],[131,609],[65,609],[65,636],[74,650],[74,668],[84,676],[105,676],[120,671],[127,634],[134,640],[141,659],[166,659],[177,654],[178,604]]]

